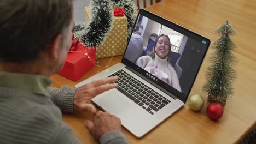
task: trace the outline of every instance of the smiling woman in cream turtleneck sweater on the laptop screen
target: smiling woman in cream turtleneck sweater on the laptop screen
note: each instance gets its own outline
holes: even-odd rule
[[[171,65],[171,42],[168,35],[159,35],[152,52],[148,52],[148,56],[139,57],[136,64],[181,92],[177,73]]]

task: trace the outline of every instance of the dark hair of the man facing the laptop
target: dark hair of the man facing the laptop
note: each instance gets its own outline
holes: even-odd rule
[[[71,19],[72,0],[1,0],[0,61],[36,60]]]

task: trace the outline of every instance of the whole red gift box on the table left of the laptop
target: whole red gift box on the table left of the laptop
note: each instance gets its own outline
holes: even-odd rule
[[[87,54],[86,54],[87,53]],[[89,57],[90,58],[89,58]],[[77,81],[88,70],[94,67],[96,62],[96,49],[88,48],[79,42],[75,51],[69,52],[65,64],[59,75]]]

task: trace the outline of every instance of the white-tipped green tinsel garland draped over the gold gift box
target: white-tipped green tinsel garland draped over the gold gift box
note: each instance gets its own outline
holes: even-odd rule
[[[125,9],[125,16],[128,21],[127,40],[135,22],[135,6],[130,0],[91,0],[91,21],[86,26],[76,25],[73,30],[77,37],[86,46],[99,46],[106,39],[113,26],[113,9],[121,7]]]

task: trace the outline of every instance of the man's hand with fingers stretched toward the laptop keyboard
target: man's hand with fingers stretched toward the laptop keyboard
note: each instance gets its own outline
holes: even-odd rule
[[[96,113],[94,105],[90,104],[91,99],[98,94],[117,87],[117,83],[109,84],[116,80],[118,80],[118,76],[106,77],[104,79],[86,83],[82,87],[77,88],[77,91],[75,91],[74,94],[74,109]]]

